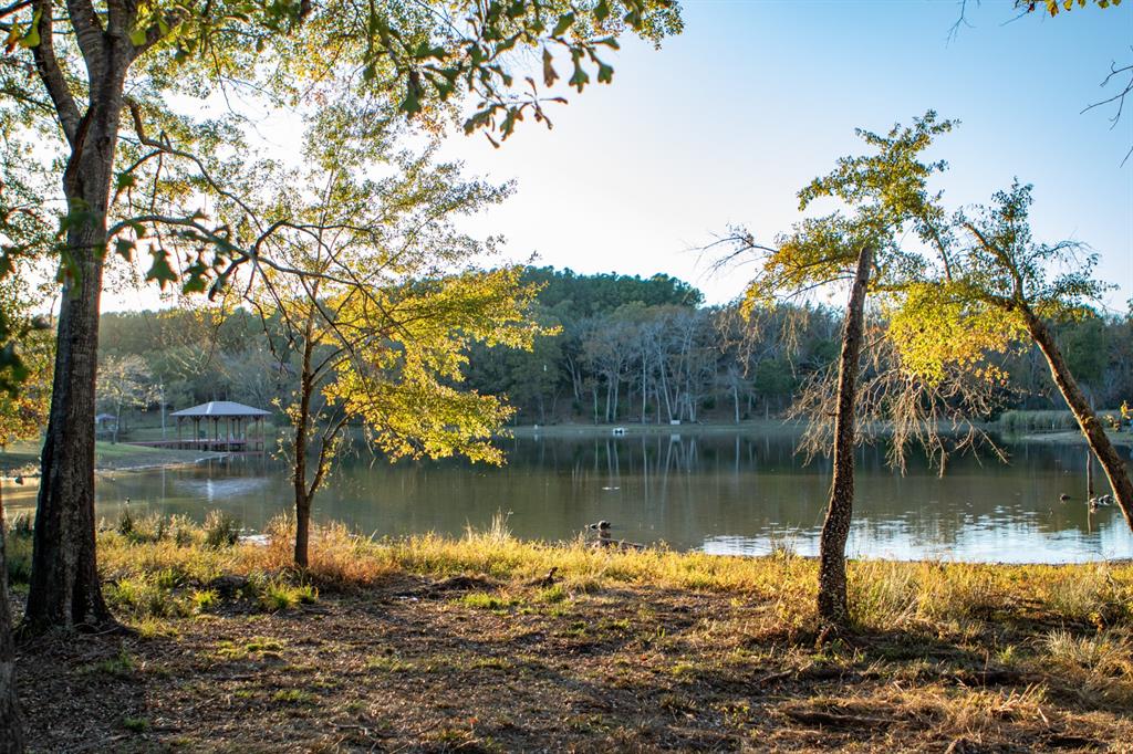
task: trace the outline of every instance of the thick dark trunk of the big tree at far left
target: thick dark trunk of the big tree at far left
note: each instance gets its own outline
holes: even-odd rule
[[[102,599],[94,537],[94,386],[107,211],[122,87],[131,50],[105,36],[91,106],[63,173],[68,203],[62,303],[43,471],[35,512],[32,577],[23,631],[90,628],[113,622]]]

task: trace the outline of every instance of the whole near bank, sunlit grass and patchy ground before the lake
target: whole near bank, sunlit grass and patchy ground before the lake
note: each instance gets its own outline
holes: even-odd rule
[[[851,566],[512,539],[231,540],[219,519],[100,533],[126,635],[39,641],[34,746],[67,751],[1127,751],[1133,565]],[[17,592],[26,529],[11,537]],[[548,572],[554,569],[548,575]],[[19,594],[15,598],[17,612]]]

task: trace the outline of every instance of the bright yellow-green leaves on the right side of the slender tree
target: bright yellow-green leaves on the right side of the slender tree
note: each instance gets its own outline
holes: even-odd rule
[[[355,355],[341,360],[324,394],[361,419],[391,459],[459,454],[501,463],[491,438],[513,410],[461,383],[474,342],[530,350],[536,335],[555,332],[530,318],[537,289],[520,283],[521,272],[466,271],[366,295],[348,290],[333,307],[334,326],[323,327],[334,335],[346,324],[350,333],[381,336],[352,335]]]

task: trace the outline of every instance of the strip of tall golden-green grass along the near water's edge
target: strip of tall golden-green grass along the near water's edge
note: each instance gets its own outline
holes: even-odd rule
[[[139,530],[152,534],[139,535]],[[164,534],[155,537],[157,531]],[[280,516],[265,533],[266,545],[213,547],[203,528],[184,519],[161,526],[135,521],[127,534],[110,528],[100,532],[100,568],[112,584],[109,591],[116,602],[129,612],[150,615],[193,611],[197,599],[193,590],[207,591],[213,580],[225,574],[247,579],[258,594],[274,589],[274,597],[266,601],[282,606],[303,601],[280,597],[287,597],[292,586],[369,588],[407,573],[431,577],[483,574],[526,583],[555,568],[562,588],[571,592],[640,586],[729,593],[769,605],[781,623],[798,625],[812,617],[816,563],[789,549],[763,558],[738,558],[595,548],[581,539],[529,541],[514,538],[500,514],[488,529],[469,528],[461,538],[423,534],[375,540],[341,524],[314,526],[309,567],[299,573],[292,559],[293,520]],[[8,552],[10,579],[26,581],[31,560],[26,522],[12,522]],[[1128,563],[1007,566],[861,560],[850,564],[849,577],[852,617],[866,629],[1034,617],[1097,631],[1133,623],[1133,564]],[[154,591],[185,592],[185,599],[161,606]]]

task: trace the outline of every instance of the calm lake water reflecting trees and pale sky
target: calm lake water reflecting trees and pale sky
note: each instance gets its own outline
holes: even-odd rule
[[[789,435],[608,434],[503,442],[504,468],[459,461],[398,463],[353,459],[315,502],[316,520],[342,521],[377,535],[460,534],[508,516],[522,538],[565,540],[606,520],[612,534],[678,549],[760,555],[787,543],[817,551],[830,481],[828,460],[802,465]],[[859,451],[858,498],[849,549],[878,558],[981,562],[1082,562],[1133,556],[1117,508],[1090,514],[1084,446],[1019,444],[1011,465],[954,460],[938,478],[923,461],[904,475],[884,449]],[[1100,471],[1099,489],[1105,488]],[[1059,503],[1062,492],[1074,496]],[[126,498],[135,514],[229,511],[258,529],[290,505],[287,468],[233,456],[167,470],[103,474],[100,515],[116,519]],[[32,490],[6,486],[12,512],[34,506]]]

